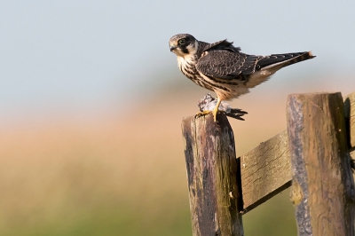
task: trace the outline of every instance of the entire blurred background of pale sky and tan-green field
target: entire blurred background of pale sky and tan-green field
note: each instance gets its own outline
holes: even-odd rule
[[[237,156],[286,129],[288,94],[355,90],[353,2],[215,4],[0,3],[0,235],[192,234],[180,124],[207,90],[178,72],[171,35],[317,56],[231,102],[248,111],[230,119]],[[288,190],[243,221],[296,235]]]

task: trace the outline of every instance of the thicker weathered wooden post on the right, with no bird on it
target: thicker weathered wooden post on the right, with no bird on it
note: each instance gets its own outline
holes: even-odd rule
[[[341,93],[290,95],[287,114],[298,235],[355,235]]]

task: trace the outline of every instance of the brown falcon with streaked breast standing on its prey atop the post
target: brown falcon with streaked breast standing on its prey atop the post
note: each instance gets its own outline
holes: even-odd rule
[[[315,57],[311,51],[248,55],[226,39],[205,43],[188,34],[172,36],[169,45],[170,51],[177,54],[180,71],[193,83],[217,93],[217,105],[212,111],[215,122],[223,100],[248,93],[248,89],[263,83],[282,67]]]

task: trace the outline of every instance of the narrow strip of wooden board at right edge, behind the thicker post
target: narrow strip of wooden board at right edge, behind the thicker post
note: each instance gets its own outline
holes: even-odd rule
[[[355,92],[344,99],[345,124],[348,130],[349,146],[355,149]]]

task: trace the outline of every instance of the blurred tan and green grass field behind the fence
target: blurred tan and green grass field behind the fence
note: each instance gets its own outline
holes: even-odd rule
[[[2,129],[0,235],[191,235],[180,123],[196,97]],[[238,154],[285,129],[283,102],[241,105],[247,121],[230,121]],[[296,235],[288,191],[243,221],[247,236]]]

